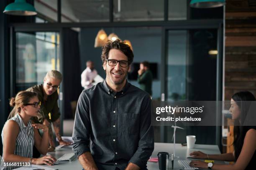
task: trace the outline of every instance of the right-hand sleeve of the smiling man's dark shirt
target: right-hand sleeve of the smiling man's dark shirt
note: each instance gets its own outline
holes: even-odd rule
[[[144,97],[140,115],[140,140],[138,149],[129,161],[129,163],[134,163],[140,168],[145,168],[147,160],[154,151],[154,129],[151,126],[151,105],[150,97]]]

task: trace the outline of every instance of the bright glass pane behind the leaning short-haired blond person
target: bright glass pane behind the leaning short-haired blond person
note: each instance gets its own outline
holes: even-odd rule
[[[59,70],[58,32],[16,32],[16,87],[41,84],[46,72]]]

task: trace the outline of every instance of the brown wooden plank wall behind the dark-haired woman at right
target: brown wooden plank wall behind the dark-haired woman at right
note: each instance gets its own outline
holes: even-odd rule
[[[226,0],[225,23],[225,100],[243,90],[256,95],[256,0]],[[227,153],[232,143],[230,126]]]

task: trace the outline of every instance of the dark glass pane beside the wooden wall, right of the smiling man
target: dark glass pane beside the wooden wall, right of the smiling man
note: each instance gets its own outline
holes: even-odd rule
[[[166,100],[216,100],[217,29],[168,31]],[[176,131],[176,143],[186,143],[186,135],[196,135],[197,144],[215,144],[215,126],[183,126]],[[172,127],[165,128],[172,142]]]

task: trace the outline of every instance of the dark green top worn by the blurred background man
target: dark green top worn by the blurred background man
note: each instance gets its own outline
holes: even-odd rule
[[[153,74],[150,70],[146,70],[141,75],[138,75],[137,82],[140,84],[141,90],[148,92],[152,96],[152,81]]]

